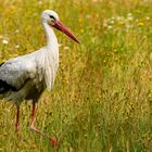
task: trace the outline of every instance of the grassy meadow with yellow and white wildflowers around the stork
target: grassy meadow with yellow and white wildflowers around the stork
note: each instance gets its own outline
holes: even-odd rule
[[[151,0],[0,0],[0,63],[46,45],[41,12],[52,9],[80,40],[55,30],[60,67],[43,92],[36,126],[21,106],[21,140],[13,104],[0,101],[0,152],[150,152],[152,150]]]

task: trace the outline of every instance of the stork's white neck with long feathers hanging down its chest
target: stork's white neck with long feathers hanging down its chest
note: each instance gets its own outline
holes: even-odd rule
[[[59,66],[59,45],[53,28],[50,27],[46,22],[42,22],[46,35],[46,56],[45,56],[45,81],[48,90],[52,88],[54,83],[56,69]]]

